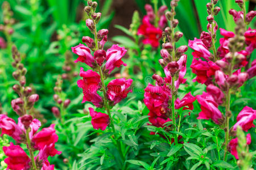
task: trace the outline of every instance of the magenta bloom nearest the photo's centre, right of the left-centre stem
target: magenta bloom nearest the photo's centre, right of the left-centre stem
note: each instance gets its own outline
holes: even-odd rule
[[[110,101],[114,101],[114,104],[117,104],[122,99],[125,99],[127,94],[132,92],[132,90],[127,90],[127,88],[131,86],[131,83],[133,83],[132,79],[126,80],[125,78],[110,81],[108,84],[108,90],[106,91],[108,99]]]

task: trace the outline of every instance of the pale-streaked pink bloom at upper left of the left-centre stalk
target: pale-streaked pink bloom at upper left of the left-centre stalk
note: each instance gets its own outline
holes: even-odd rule
[[[79,44],[75,47],[71,47],[72,52],[77,54],[79,57],[75,60],[75,62],[82,62],[82,63],[86,63],[86,65],[90,66],[90,67],[94,67],[94,59],[92,54],[90,54],[90,49],[88,47],[86,47],[83,44]]]

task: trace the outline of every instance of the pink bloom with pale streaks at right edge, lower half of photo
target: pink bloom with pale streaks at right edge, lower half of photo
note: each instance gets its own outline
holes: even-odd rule
[[[234,124],[233,130],[237,130],[237,126],[241,126],[244,131],[254,128],[253,121],[256,119],[256,111],[250,107],[244,107],[237,115],[237,123]]]

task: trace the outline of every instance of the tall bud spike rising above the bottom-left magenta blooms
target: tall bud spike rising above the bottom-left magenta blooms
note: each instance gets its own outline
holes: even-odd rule
[[[19,98],[11,101],[11,107],[13,107],[13,110],[19,116],[22,116],[34,106],[35,102],[39,100],[39,96],[37,94],[31,94],[32,88],[25,86],[27,69],[20,62],[20,53],[16,46],[13,46],[12,53],[14,59],[12,65],[16,68],[16,71],[13,72],[13,77],[19,81],[19,84],[14,84],[13,90],[19,95]]]

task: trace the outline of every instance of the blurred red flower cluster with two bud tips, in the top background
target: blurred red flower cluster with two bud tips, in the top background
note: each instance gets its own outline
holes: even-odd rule
[[[162,37],[162,30],[167,24],[167,19],[164,15],[164,11],[167,10],[167,6],[162,6],[158,10],[158,28],[154,26],[156,16],[152,6],[146,4],[145,9],[147,11],[147,15],[143,17],[142,25],[138,29],[138,35],[144,36],[142,41],[144,44],[150,44],[152,47],[157,48],[159,46],[159,40]]]

